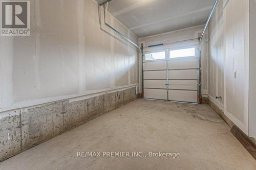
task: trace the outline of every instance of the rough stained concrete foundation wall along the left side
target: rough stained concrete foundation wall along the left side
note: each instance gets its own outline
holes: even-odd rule
[[[0,161],[137,99],[136,87],[3,112]]]

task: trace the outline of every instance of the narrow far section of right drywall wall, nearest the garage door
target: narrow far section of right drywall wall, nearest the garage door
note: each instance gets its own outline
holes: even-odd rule
[[[223,1],[219,1],[209,22],[209,98],[224,109],[224,26]],[[216,99],[216,97],[220,97]]]

